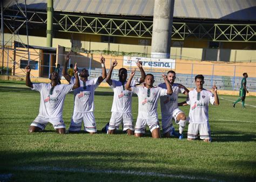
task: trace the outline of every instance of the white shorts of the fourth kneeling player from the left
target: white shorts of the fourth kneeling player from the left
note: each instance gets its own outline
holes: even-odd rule
[[[146,125],[149,126],[149,129],[151,132],[154,129],[160,128],[160,124],[157,118],[152,118],[152,119],[137,118],[134,132],[136,134],[145,134]]]

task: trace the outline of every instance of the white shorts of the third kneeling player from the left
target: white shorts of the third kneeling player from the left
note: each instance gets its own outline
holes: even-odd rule
[[[134,130],[133,127],[133,117],[132,113],[118,113],[112,112],[110,122],[109,122],[109,130],[116,130],[119,128],[119,125],[123,122],[123,131],[127,129]]]

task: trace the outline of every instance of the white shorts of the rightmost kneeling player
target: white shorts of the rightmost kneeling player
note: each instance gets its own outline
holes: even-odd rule
[[[198,136],[198,130],[200,134],[200,139],[211,139],[211,129],[209,123],[196,124],[190,123],[188,124],[187,130],[187,138],[196,139]]]

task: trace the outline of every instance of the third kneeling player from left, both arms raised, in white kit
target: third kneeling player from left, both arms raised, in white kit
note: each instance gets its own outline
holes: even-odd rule
[[[136,82],[142,83],[145,79],[145,72],[142,67],[142,62],[136,62],[136,64],[140,70],[140,73],[142,74],[142,78],[140,78],[139,80],[131,80],[131,86],[136,86]],[[114,134],[115,130],[123,121],[123,131],[126,131],[128,135],[133,135],[133,117],[131,113],[132,92],[125,89],[127,70],[125,68],[120,68],[118,71],[119,81],[111,80],[112,71],[116,66],[117,61],[113,61],[106,78],[106,82],[109,83],[114,92],[113,104],[111,109],[112,114],[107,133]]]

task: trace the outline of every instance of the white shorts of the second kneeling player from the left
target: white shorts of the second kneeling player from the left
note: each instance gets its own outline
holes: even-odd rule
[[[76,111],[73,112],[69,131],[80,131],[82,128],[82,121],[84,121],[84,131],[97,132],[93,112],[78,113]]]

